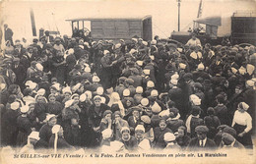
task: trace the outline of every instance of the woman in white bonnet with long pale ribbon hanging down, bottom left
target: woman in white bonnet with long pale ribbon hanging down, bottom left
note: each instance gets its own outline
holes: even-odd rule
[[[72,150],[74,148],[63,137],[63,129],[60,125],[53,126],[51,132],[52,136],[49,140],[49,147],[54,149],[54,153],[57,153],[59,149]]]

